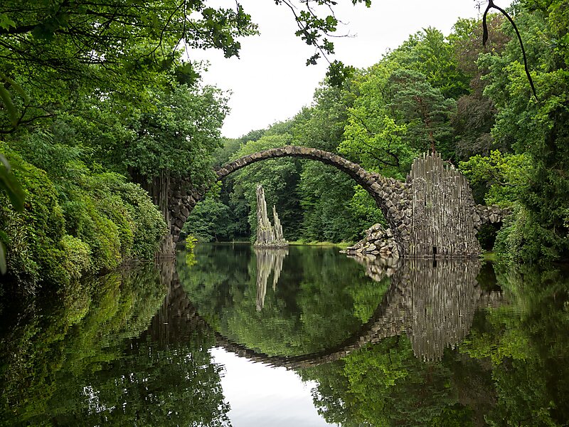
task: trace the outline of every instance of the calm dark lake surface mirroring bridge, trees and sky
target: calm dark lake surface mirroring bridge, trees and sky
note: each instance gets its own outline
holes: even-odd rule
[[[558,268],[198,245],[15,311],[1,426],[568,426]]]

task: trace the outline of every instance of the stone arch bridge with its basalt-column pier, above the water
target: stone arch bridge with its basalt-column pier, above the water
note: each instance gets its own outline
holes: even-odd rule
[[[388,222],[403,257],[476,257],[482,251],[476,233],[482,224],[500,222],[507,214],[497,206],[474,203],[467,179],[443,162],[439,154],[415,159],[405,182],[367,172],[358,164],[337,154],[309,147],[287,145],[249,154],[224,164],[217,172],[218,181],[265,159],[301,157],[330,164],[366,189]],[[191,210],[207,188],[196,189],[189,181],[177,181],[169,189],[166,220],[170,226],[165,250],[174,253]]]

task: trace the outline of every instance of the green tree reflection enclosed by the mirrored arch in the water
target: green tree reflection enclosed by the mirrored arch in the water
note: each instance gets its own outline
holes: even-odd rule
[[[278,287],[257,311],[260,269],[252,251],[205,245],[196,250],[196,265],[178,265],[191,302],[216,332],[266,354],[306,354],[342,342],[368,320],[387,288],[334,248],[292,247],[283,258]]]

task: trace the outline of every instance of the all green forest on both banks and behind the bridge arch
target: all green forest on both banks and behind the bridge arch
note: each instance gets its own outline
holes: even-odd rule
[[[567,257],[568,1],[520,0],[509,9],[536,97],[514,28],[491,15],[485,47],[480,21],[459,20],[449,36],[425,28],[366,70],[333,63],[343,78],[330,72],[311,106],[226,140],[227,95],[201,84],[205,71],[185,59],[184,48],[235,56],[238,39],[256,26],[240,6],[191,3],[199,12],[191,17],[167,0],[3,3],[2,283],[33,294],[42,283],[69,285],[152,258],[166,233],[153,204],[162,184],[176,176],[211,184],[212,166],[285,144],[337,152],[398,179],[414,157],[436,150],[467,175],[479,203],[514,209],[497,235],[481,233],[486,248],[519,262]],[[337,22],[299,20],[299,36],[331,53],[319,31]],[[184,231],[248,240],[255,184],[265,186],[289,240],[353,241],[383,221],[349,177],[314,162],[273,159],[215,186]]]

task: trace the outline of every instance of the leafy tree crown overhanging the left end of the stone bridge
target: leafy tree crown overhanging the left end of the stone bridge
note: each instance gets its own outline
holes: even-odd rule
[[[121,172],[145,179],[167,172],[200,186],[213,179],[211,153],[220,147],[226,102],[220,90],[212,87],[177,85],[156,93],[150,110],[137,109],[125,117],[125,138],[117,140],[105,133],[97,154]],[[113,113],[107,111],[105,116]]]

